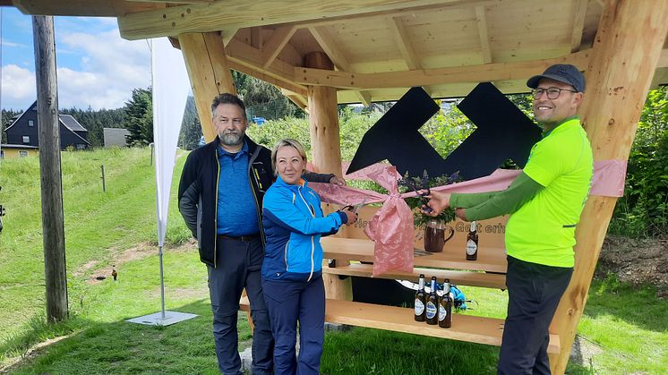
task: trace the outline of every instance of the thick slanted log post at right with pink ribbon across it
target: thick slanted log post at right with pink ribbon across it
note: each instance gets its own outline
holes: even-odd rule
[[[668,32],[666,14],[668,2],[664,0],[605,3],[580,110],[595,160],[629,158],[647,89]],[[550,358],[554,374],[563,374],[569,362],[570,346],[616,201],[589,197],[578,224],[575,271],[551,326],[552,333],[558,333],[561,339],[561,353]]]

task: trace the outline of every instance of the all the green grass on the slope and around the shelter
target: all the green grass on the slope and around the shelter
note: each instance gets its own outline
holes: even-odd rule
[[[206,268],[193,246],[176,251],[189,233],[176,212],[176,164],[164,254],[167,310],[200,315],[165,328],[124,320],[159,311],[155,183],[148,149],[63,154],[65,236],[70,319],[47,325],[41,251],[37,158],[4,160],[0,202],[7,207],[0,235],[0,366],[36,343],[65,337],[24,358],[15,373],[217,373]],[[107,169],[101,192],[99,165]],[[118,265],[118,281],[91,283],[123,251],[144,243],[143,257]],[[146,244],[148,243],[148,245]],[[95,263],[93,263],[95,262]],[[92,264],[84,269],[84,264]],[[74,276],[74,270],[77,270]],[[474,311],[503,318],[507,294],[462,287]],[[456,320],[455,320],[456,321]],[[251,337],[240,314],[240,349]],[[570,374],[668,373],[668,302],[649,287],[632,288],[614,277],[594,280],[578,334],[599,345]],[[493,373],[499,349],[370,328],[328,332],[325,374]]]

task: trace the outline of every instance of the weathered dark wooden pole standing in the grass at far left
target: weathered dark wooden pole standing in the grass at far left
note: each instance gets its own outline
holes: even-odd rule
[[[54,18],[52,16],[33,16],[32,33],[37,79],[39,176],[42,192],[42,238],[47,286],[47,320],[56,322],[67,318],[67,275]]]

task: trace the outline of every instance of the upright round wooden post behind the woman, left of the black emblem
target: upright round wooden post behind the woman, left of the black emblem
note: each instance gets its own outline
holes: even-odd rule
[[[304,56],[304,66],[316,69],[334,69],[330,58],[322,52]],[[338,133],[337,90],[327,86],[308,87],[308,112],[311,125],[311,153],[313,165],[320,173],[341,175],[341,146]],[[347,260],[335,260],[338,266]],[[327,267],[327,266],[325,266]],[[327,298],[351,301],[353,287],[350,278],[341,280],[337,275],[322,275]]]

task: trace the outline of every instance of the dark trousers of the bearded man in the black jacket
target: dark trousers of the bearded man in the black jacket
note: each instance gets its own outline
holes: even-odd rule
[[[253,374],[273,371],[274,339],[261,287],[264,249],[259,237],[248,242],[218,236],[217,268],[208,267],[213,337],[218,369],[223,374],[242,374],[236,332],[239,299],[244,287],[253,319]]]

